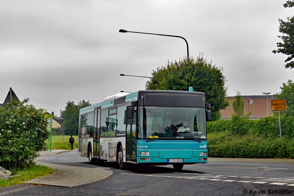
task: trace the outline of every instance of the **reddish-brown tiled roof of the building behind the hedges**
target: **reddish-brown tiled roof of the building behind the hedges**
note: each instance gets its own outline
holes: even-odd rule
[[[221,118],[220,119],[229,119],[234,114],[234,110],[232,107],[233,97],[226,97],[229,101],[229,106],[223,110],[220,110]],[[266,95],[253,95],[253,96],[242,96],[244,100],[244,115],[251,111],[251,115],[249,119],[258,119],[267,116],[267,109],[266,109]],[[273,116],[273,112],[270,106],[270,100],[275,99],[275,95],[268,95],[268,115]]]

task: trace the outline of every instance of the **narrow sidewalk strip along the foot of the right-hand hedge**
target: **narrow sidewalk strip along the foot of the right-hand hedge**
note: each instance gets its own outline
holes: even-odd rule
[[[252,159],[252,158],[214,158],[208,157],[208,161],[216,162],[243,162],[243,163],[294,163],[294,159]]]

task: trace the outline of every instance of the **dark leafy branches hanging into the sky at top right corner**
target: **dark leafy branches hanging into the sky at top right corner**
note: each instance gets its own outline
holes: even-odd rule
[[[294,0],[287,1],[284,4],[284,7],[294,7]],[[282,19],[279,19],[280,27],[279,31],[280,33],[283,33],[285,35],[278,36],[279,38],[282,38],[282,42],[278,42],[278,50],[273,50],[273,53],[282,53],[288,55],[288,57],[285,60],[286,68],[294,68],[294,61],[292,59],[294,58],[294,16],[288,17],[288,21],[283,21]]]

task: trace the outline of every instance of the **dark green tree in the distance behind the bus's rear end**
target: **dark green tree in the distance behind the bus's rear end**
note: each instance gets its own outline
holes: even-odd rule
[[[78,105],[74,101],[68,101],[65,110],[60,110],[60,116],[64,119],[63,124],[66,128],[65,135],[76,135],[78,133],[78,117],[81,108],[92,105],[89,101],[79,101]]]

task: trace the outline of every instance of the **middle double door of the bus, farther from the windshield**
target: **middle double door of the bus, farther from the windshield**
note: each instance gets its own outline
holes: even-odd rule
[[[94,110],[93,158],[99,158],[100,111],[101,108]]]

